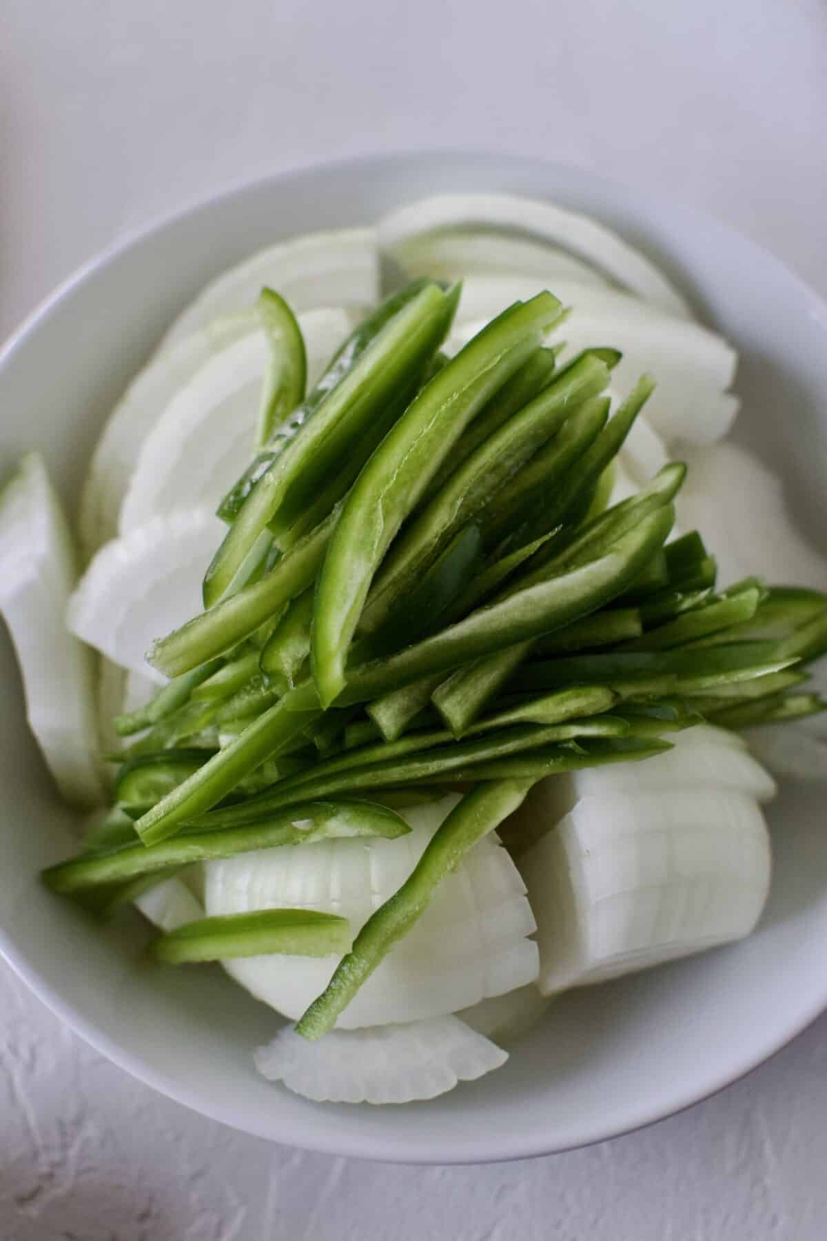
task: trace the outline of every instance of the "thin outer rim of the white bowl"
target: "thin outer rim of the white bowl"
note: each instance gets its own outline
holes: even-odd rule
[[[580,179],[584,184],[601,190],[606,194],[609,200],[611,200],[613,196],[616,199],[622,199],[625,195],[632,195],[632,197],[637,196],[637,191],[634,186],[626,186],[622,182],[601,176],[589,169],[580,168],[569,161],[547,160],[531,155],[517,155],[508,151],[476,146],[459,149],[415,148],[405,151],[392,151],[386,154],[373,153],[366,155],[352,155],[343,159],[314,160],[304,164],[291,164],[289,168],[280,171],[244,179],[224,186],[213,194],[201,195],[191,200],[185,206],[154,216],[148,222],[128,230],[124,235],[115,238],[110,244],[93,254],[89,259],[71,272],[69,276],[57,284],[51,293],[35,305],[35,308],[22,319],[16,329],[12,329],[6,340],[0,345],[0,372],[10,362],[17,349],[20,349],[24,344],[27,344],[29,340],[37,334],[43,323],[46,323],[58,310],[58,308],[63,305],[64,302],[71,299],[78,288],[95,278],[100,272],[108,268],[112,263],[117,262],[126,252],[138,248],[144,242],[149,241],[154,235],[160,233],[171,226],[186,226],[187,223],[192,223],[202,211],[207,211],[217,204],[228,204],[233,199],[243,199],[247,195],[255,195],[260,192],[265,185],[272,186],[274,191],[278,191],[278,187],[281,185],[291,181],[301,181],[303,179],[312,177],[314,175],[325,176],[334,172],[355,175],[358,170],[365,169],[393,169],[400,165],[433,166],[434,163],[440,165],[454,161],[462,164],[469,160],[485,160],[491,163],[492,177],[496,176],[496,168],[500,170],[507,170],[511,168],[513,170],[522,169],[526,171],[534,169],[538,180],[542,176],[553,176],[557,171]],[[450,191],[446,190],[443,192]],[[684,220],[693,223],[694,227],[703,228],[707,232],[712,231],[720,240],[730,240],[740,246],[741,249],[751,252],[764,267],[767,264],[774,267],[776,273],[782,276],[784,279],[794,285],[798,294],[810,303],[810,313],[827,325],[827,302],[822,299],[822,297],[795,269],[790,268],[771,251],[765,249],[750,237],[746,237],[738,230],[722,223],[712,216],[708,216],[705,212],[671,200],[668,195],[662,195],[660,190],[650,190],[650,187],[647,187],[646,195],[647,199],[653,202],[655,206],[662,208],[667,216],[674,216],[676,213],[681,215]],[[249,1118],[242,1114],[228,1112],[224,1108],[212,1107],[208,1098],[196,1098],[195,1092],[181,1088],[172,1076],[155,1069],[140,1055],[124,1051],[123,1047],[120,1047],[113,1039],[97,1029],[95,1025],[91,1023],[72,1001],[64,999],[52,984],[45,982],[33,967],[29,965],[25,948],[17,946],[2,926],[0,926],[0,956],[7,962],[15,974],[26,984],[37,999],[46,1005],[47,1009],[60,1018],[60,1020],[64,1021],[95,1051],[105,1056],[119,1069],[125,1070],[133,1077],[146,1083],[148,1086],[151,1086],[154,1090],[167,1096],[175,1102],[181,1103],[196,1114],[206,1116],[210,1119],[218,1121],[231,1128],[248,1133],[253,1137],[264,1138],[267,1140],[280,1140],[273,1137],[272,1131],[265,1129],[263,1126],[258,1126],[255,1121],[250,1122]],[[827,982],[825,984],[825,994],[800,1011],[798,1016],[792,1021],[791,1026],[784,1035],[772,1039],[770,1045],[763,1051],[749,1056],[739,1070],[733,1072],[732,1070],[724,1069],[693,1087],[684,1087],[682,1091],[677,1091],[673,1101],[666,1109],[662,1103],[660,1106],[642,1104],[637,1108],[635,1114],[630,1117],[627,1123],[624,1122],[621,1124],[615,1124],[608,1129],[586,1126],[582,1133],[575,1133],[575,1136],[564,1144],[557,1144],[553,1139],[549,1140],[548,1138],[543,1139],[537,1133],[533,1133],[532,1136],[510,1133],[500,1136],[493,1142],[485,1137],[472,1143],[469,1143],[467,1139],[460,1139],[461,1149],[456,1150],[456,1143],[451,1143],[450,1140],[443,1142],[435,1134],[429,1136],[427,1142],[419,1138],[412,1142],[408,1138],[399,1139],[398,1137],[394,1137],[392,1132],[388,1132],[381,1137],[360,1137],[358,1134],[351,1136],[348,1149],[343,1149],[341,1138],[338,1140],[336,1138],[327,1139],[325,1136],[325,1127],[324,1124],[320,1124],[312,1129],[311,1133],[301,1134],[301,1149],[345,1158],[369,1159],[379,1163],[403,1163],[418,1165],[467,1165],[477,1163],[512,1162],[517,1159],[541,1158],[548,1154],[559,1154],[582,1149],[584,1147],[594,1145],[599,1142],[605,1142],[627,1133],[635,1133],[639,1129],[655,1124],[661,1119],[666,1119],[670,1116],[676,1116],[687,1111],[696,1103],[719,1093],[727,1086],[749,1076],[760,1065],[772,1059],[779,1051],[789,1046],[826,1009]],[[289,1134],[285,1134],[285,1140],[290,1140]]]

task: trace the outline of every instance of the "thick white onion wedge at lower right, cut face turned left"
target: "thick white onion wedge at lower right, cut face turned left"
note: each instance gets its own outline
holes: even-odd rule
[[[583,798],[520,858],[537,916],[541,992],[749,934],[766,901],[770,866],[764,817],[744,793]]]

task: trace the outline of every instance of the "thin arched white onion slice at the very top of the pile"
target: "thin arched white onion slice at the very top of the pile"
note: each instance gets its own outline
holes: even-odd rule
[[[658,268],[617,233],[552,202],[508,194],[443,194],[379,220],[379,248],[394,253],[410,237],[451,226],[512,230],[578,254],[613,280],[670,315],[691,318],[683,297]]]

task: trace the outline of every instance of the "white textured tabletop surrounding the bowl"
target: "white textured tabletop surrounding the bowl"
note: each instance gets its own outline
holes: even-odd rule
[[[821,0],[0,0],[0,336],[95,251],[218,189],[429,146],[666,189],[827,294],[826,138]],[[822,1019],[589,1150],[307,1155],[131,1081],[0,965],[2,1241],[820,1241],[826,1116]]]

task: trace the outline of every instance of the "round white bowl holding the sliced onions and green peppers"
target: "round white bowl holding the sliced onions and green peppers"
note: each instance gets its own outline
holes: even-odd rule
[[[574,169],[472,154],[376,158],[275,176],[177,215],[89,264],[0,359],[4,472],[38,446],[76,498],[103,417],[205,280],[280,236],[369,221],[439,190],[549,197],[604,220],[658,259],[740,352],[738,438],[784,474],[801,525],[825,529],[825,304],[751,242],[656,195]],[[138,926],[102,934],[40,886],[38,870],[66,853],[68,817],[26,730],[5,634],[0,678],[0,948],[93,1046],[205,1116],[369,1159],[544,1154],[703,1098],[827,1005],[823,803],[796,791],[772,810],[772,894],[745,943],[565,997],[503,1070],[433,1102],[305,1102],[253,1071],[250,1050],[272,1034],[273,1015],[219,969],[146,968],[138,961]]]

